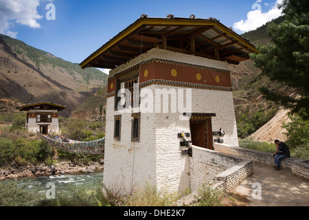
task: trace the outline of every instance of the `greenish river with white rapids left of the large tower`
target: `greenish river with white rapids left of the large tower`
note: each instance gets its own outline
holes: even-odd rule
[[[78,192],[83,190],[86,193],[95,192],[98,187],[101,187],[103,171],[91,174],[52,175],[35,178],[25,177],[3,181],[4,183],[16,181],[19,187],[24,186],[25,189],[36,190],[42,199],[73,199]]]

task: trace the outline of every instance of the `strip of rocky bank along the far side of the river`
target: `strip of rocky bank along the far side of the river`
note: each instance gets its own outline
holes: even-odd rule
[[[59,174],[94,173],[95,171],[103,170],[103,166],[103,159],[99,162],[89,162],[87,164],[74,164],[70,161],[64,161],[49,166],[45,164],[27,166],[12,165],[0,167],[0,180]]]

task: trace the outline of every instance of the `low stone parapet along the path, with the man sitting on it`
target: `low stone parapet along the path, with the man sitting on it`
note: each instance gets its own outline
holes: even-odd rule
[[[214,150],[221,153],[227,153],[229,155],[252,159],[253,162],[259,162],[266,165],[273,165],[275,160],[272,153],[255,151],[248,148],[240,148],[238,146],[229,146],[227,144],[214,143]],[[309,179],[308,159],[288,157],[281,161],[281,166],[282,168],[291,170],[294,175],[303,177],[304,179]]]

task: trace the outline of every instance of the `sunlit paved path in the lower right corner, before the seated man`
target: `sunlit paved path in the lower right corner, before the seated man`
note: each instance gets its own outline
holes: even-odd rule
[[[251,201],[248,206],[309,206],[309,180],[293,175],[290,170],[274,170],[272,166],[255,162],[253,172],[233,189]],[[259,195],[253,183],[260,183],[260,199],[253,199]]]

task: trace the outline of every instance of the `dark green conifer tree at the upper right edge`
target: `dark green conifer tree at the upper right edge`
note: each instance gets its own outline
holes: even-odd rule
[[[284,0],[282,5],[286,21],[268,28],[272,44],[258,47],[260,54],[251,54],[256,67],[274,83],[297,89],[299,97],[293,98],[266,87],[260,91],[268,100],[301,113],[309,118],[309,1]]]

